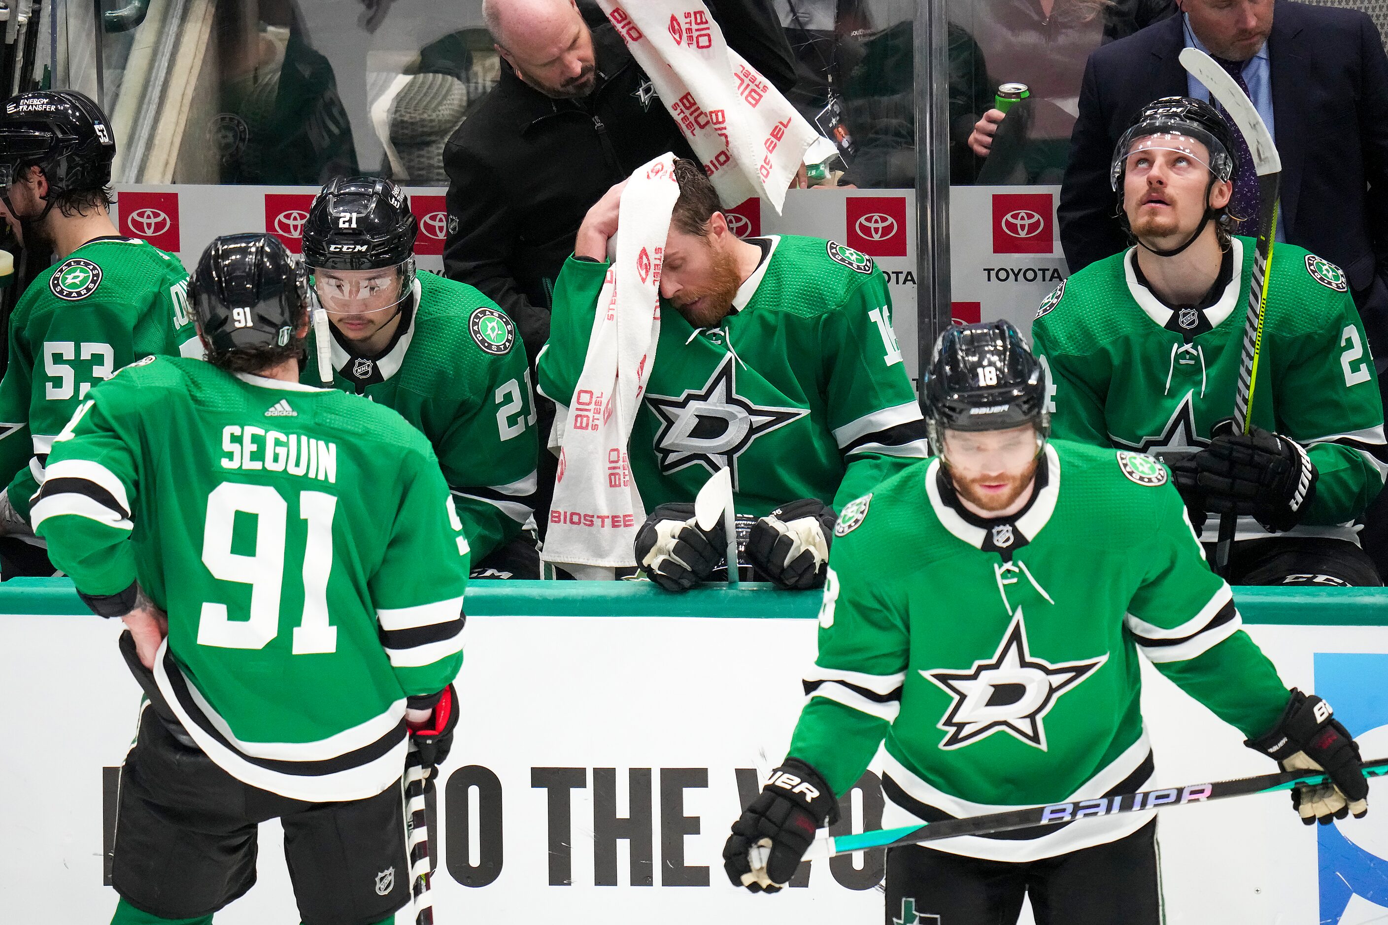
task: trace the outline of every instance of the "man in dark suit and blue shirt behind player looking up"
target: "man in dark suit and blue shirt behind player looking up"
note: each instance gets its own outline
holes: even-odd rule
[[[1345,270],[1373,352],[1388,358],[1388,57],[1378,29],[1360,11],[1291,0],[1183,0],[1181,10],[1090,55],[1060,189],[1070,272],[1128,245],[1109,186],[1113,146],[1151,100],[1208,98],[1177,60],[1201,47],[1245,83],[1273,132],[1283,158],[1277,240]],[[1234,211],[1249,218],[1251,201],[1241,230],[1256,233],[1251,159],[1239,168],[1252,187]]]

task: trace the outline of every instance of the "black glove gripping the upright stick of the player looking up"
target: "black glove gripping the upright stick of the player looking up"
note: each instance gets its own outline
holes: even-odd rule
[[[1219,422],[1195,463],[1205,510],[1252,515],[1274,533],[1295,527],[1316,496],[1316,465],[1306,451],[1262,427],[1238,434],[1233,420]]]

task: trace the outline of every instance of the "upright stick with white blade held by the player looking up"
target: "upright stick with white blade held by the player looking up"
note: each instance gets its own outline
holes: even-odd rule
[[[1277,233],[1278,191],[1283,183],[1283,159],[1277,155],[1273,136],[1258,115],[1238,82],[1214,58],[1199,49],[1181,51],[1181,67],[1205,85],[1210,96],[1224,107],[1234,125],[1244,133],[1244,141],[1253,154],[1258,173],[1258,250],[1253,254],[1253,279],[1248,287],[1248,316],[1244,320],[1244,352],[1238,363],[1238,391],[1234,394],[1234,427],[1241,434],[1249,429],[1253,406],[1253,386],[1258,383],[1258,358],[1263,351],[1263,318],[1267,311],[1267,265],[1273,262],[1273,237]],[[1214,546],[1214,571],[1228,577],[1228,553],[1234,546],[1238,516],[1226,513],[1219,519],[1219,542]]]

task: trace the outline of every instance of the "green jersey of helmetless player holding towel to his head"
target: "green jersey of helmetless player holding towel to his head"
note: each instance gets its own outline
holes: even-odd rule
[[[797,498],[837,509],[929,453],[872,259],[813,237],[762,240],[769,255],[718,327],[695,329],[661,301],[630,442],[647,510],[693,501],[725,467],[740,515],[761,517]],[[559,405],[557,424],[576,401],[607,268],[570,257],[555,284],[537,366],[540,392]]]

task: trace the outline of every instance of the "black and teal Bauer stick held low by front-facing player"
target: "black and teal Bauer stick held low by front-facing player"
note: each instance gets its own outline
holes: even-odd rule
[[[1388,774],[1388,759],[1364,761],[1364,777],[1376,778]],[[1117,796],[1101,796],[1094,800],[1076,800],[1073,803],[1052,803],[1051,806],[1034,806],[1024,810],[1008,810],[1005,813],[990,813],[987,815],[969,815],[942,822],[926,822],[923,825],[905,825],[894,829],[877,829],[859,835],[840,835],[816,838],[805,853],[805,860],[834,857],[851,851],[862,851],[873,847],[895,847],[898,845],[920,845],[922,842],[938,842],[940,839],[959,835],[992,835],[995,832],[1012,832],[1015,829],[1038,828],[1044,825],[1059,825],[1062,822],[1077,822],[1087,818],[1101,818],[1117,813],[1137,813],[1153,810],[1162,806],[1181,806],[1183,803],[1206,803],[1209,800],[1223,800],[1231,796],[1249,796],[1252,793],[1273,793],[1276,790],[1289,790],[1294,786],[1306,784],[1324,784],[1330,779],[1327,774],[1306,771],[1281,771],[1278,774],[1263,774],[1260,777],[1245,777],[1235,781],[1214,781],[1212,784],[1191,784],[1188,786],[1173,786],[1160,790],[1141,790],[1138,793],[1120,793]]]

